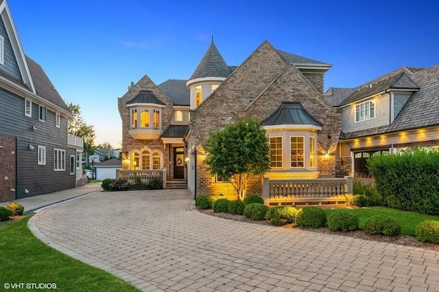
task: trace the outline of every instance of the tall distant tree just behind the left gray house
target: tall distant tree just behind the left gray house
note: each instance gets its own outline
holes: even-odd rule
[[[69,118],[69,134],[82,137],[86,152],[93,151],[93,144],[96,137],[93,125],[87,124],[82,118],[80,105],[67,103],[67,107],[69,107],[73,114],[73,118]]]

